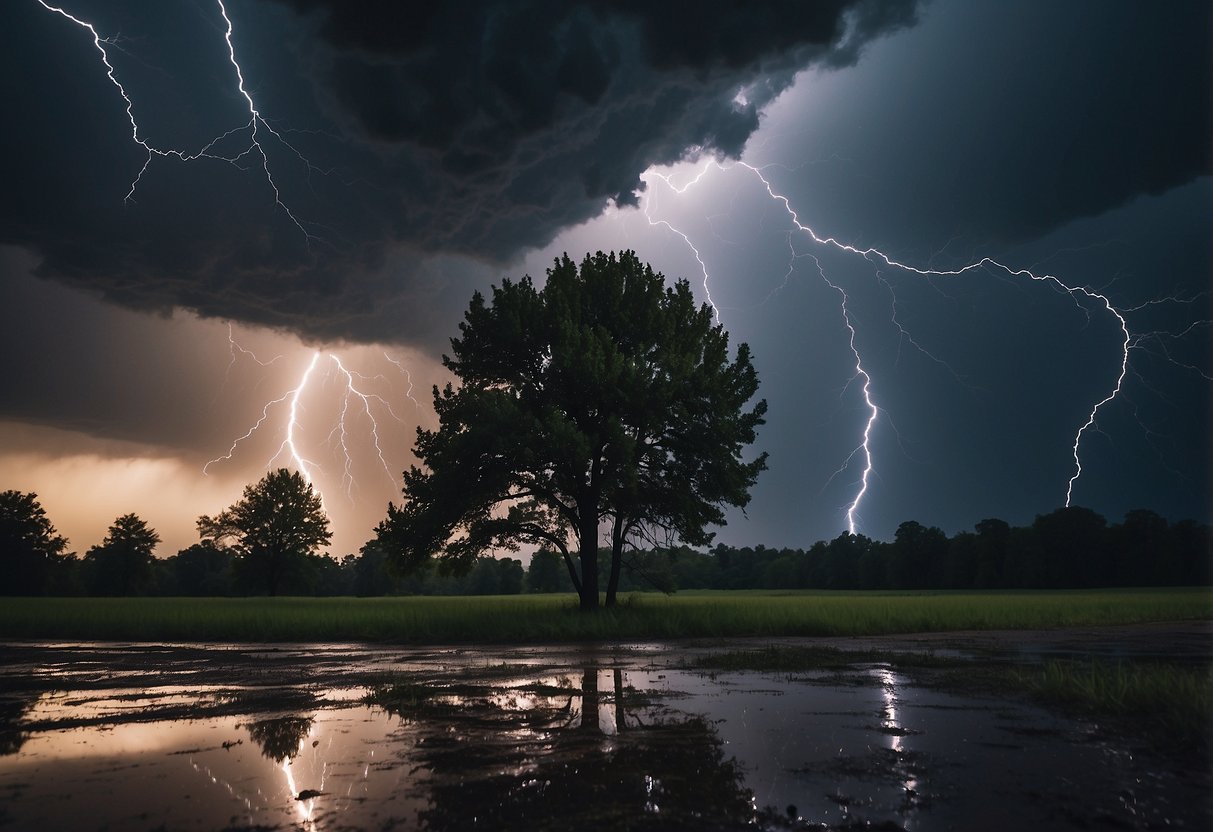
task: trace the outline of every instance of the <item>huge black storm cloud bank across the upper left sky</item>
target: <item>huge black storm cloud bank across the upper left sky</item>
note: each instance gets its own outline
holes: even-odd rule
[[[909,0],[228,6],[257,107],[314,164],[261,127],[291,213],[251,154],[244,170],[153,158],[124,204],[146,154],[90,36],[6,4],[0,243],[132,308],[354,340],[428,335],[443,263],[500,264],[634,203],[653,164],[738,155],[796,70],[853,62],[915,15]],[[112,61],[152,144],[197,150],[247,121],[217,6],[68,7],[120,35]]]

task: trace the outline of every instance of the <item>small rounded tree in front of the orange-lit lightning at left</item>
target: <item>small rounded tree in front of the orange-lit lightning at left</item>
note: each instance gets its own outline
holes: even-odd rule
[[[198,534],[217,545],[234,543],[256,591],[277,595],[291,569],[332,538],[320,496],[296,471],[279,468],[215,517],[198,518]]]

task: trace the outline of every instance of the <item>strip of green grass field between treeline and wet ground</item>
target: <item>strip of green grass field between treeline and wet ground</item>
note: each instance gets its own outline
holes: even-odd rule
[[[586,615],[573,595],[4,598],[0,638],[130,642],[611,642],[877,636],[1213,619],[1207,588],[633,594]]]

